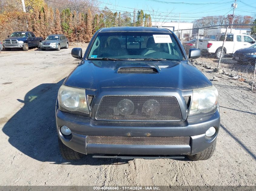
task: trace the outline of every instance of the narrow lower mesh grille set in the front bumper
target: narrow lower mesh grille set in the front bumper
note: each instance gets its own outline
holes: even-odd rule
[[[87,136],[87,143],[108,145],[189,145],[190,137]]]

